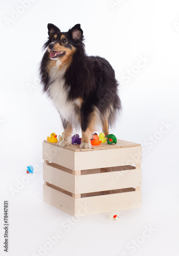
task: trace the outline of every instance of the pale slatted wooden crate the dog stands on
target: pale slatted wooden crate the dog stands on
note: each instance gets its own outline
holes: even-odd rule
[[[43,200],[72,216],[142,206],[142,147],[117,140],[81,149],[43,142]]]

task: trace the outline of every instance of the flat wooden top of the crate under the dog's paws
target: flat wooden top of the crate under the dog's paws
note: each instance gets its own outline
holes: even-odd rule
[[[53,144],[54,146],[59,147],[59,141],[57,143],[51,143],[51,142],[48,142],[47,140],[44,140],[44,143]],[[117,139],[117,143],[111,144],[111,145],[105,142],[105,143],[101,143],[98,146],[91,145],[91,148],[80,148],[80,145],[78,144],[73,144],[71,146],[63,146],[61,148],[64,148],[65,150],[69,150],[73,152],[84,152],[84,151],[96,151],[96,150],[110,150],[112,148],[134,147],[134,146],[140,146],[140,144]]]

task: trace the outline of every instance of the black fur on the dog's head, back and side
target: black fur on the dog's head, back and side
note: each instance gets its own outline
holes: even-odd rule
[[[77,31],[74,38],[74,32]],[[48,24],[48,40],[44,44],[44,49],[53,42],[53,36],[57,34],[56,42],[60,41],[61,35],[65,35],[68,40],[66,48],[75,47],[76,52],[72,56],[72,62],[64,74],[65,87],[70,88],[68,100],[82,98],[83,104],[80,109],[82,131],[86,131],[89,124],[89,115],[94,106],[99,110],[101,120],[105,120],[106,113],[109,124],[115,121],[116,114],[121,109],[121,102],[118,97],[118,82],[110,63],[99,56],[87,56],[85,53],[83,30],[80,24],[75,25],[68,32],[61,32],[53,24]],[[43,91],[47,92],[49,87],[49,74],[47,64],[49,62],[49,52],[46,51],[40,65],[40,76],[43,84]],[[112,108],[111,108],[112,105]],[[62,120],[66,126],[66,120]],[[68,120],[69,121],[69,120]]]

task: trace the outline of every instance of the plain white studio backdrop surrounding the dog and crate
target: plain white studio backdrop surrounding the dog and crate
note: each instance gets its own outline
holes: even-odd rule
[[[1,17],[0,251],[9,200],[9,255],[178,255],[178,1],[9,0]],[[43,203],[42,141],[63,132],[38,78],[48,23],[61,31],[80,23],[87,54],[111,63],[123,108],[111,133],[143,147],[143,207],[117,223],[108,214],[75,221]],[[36,168],[29,181],[27,165]],[[57,230],[63,237],[40,250]]]

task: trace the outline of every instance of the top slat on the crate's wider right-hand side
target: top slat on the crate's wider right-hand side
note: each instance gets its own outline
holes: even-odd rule
[[[74,153],[74,169],[93,169],[142,162],[142,147],[125,147]]]

